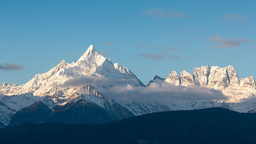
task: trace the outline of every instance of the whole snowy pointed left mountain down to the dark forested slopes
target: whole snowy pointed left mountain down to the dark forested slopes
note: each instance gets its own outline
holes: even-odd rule
[[[90,82],[84,81],[79,86],[68,83],[68,81],[74,80],[72,82],[75,82],[85,78],[97,78],[100,82],[105,81],[105,83],[98,84],[99,87],[104,88],[113,85],[109,81],[119,79],[131,79],[133,81],[129,81],[129,84],[144,86],[127,67],[122,67],[118,63],[113,64],[109,58],[98,54],[91,45],[76,63],[66,63],[65,60],[61,60],[48,72],[36,74],[33,79],[21,86],[2,84],[0,92],[5,96],[1,100],[0,121],[3,125],[7,125],[17,111],[32,105],[37,100],[53,111],[56,106],[83,100],[106,109],[117,118],[133,116],[130,111],[113,99],[104,97],[95,91]]]

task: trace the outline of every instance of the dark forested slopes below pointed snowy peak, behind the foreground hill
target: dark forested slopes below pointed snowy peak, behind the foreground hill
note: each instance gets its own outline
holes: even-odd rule
[[[51,111],[44,103],[37,101],[33,105],[16,112],[9,126],[21,125],[23,123],[47,122],[100,124],[135,116],[132,112],[117,103],[114,103],[112,106],[113,109],[110,111],[92,102],[78,100],[77,102],[67,103],[64,106],[56,106],[54,107],[54,111]]]

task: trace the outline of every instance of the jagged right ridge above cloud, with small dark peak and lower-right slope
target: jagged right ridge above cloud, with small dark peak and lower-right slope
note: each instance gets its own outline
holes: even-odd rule
[[[150,83],[167,82],[176,86],[201,86],[214,88],[222,91],[228,96],[229,102],[239,102],[243,98],[250,98],[256,95],[256,83],[253,76],[244,79],[237,76],[232,65],[227,67],[218,66],[201,66],[193,68],[193,74],[180,72],[179,77],[177,72],[172,71],[165,79],[158,78],[150,81]]]

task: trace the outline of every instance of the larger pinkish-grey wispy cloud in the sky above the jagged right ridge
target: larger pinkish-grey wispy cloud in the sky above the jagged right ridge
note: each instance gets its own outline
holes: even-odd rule
[[[228,39],[226,37],[221,37],[221,35],[217,35],[216,37],[210,37],[206,40],[208,42],[217,44],[216,45],[217,49],[235,48],[235,47],[241,46],[242,44],[247,44],[250,42],[250,40],[246,38],[235,37],[233,39]]]

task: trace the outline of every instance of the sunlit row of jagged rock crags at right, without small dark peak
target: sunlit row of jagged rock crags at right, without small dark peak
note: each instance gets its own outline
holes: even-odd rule
[[[160,78],[163,79],[163,78]],[[202,86],[215,89],[233,88],[233,89],[247,89],[251,91],[256,90],[256,84],[253,76],[239,79],[237,72],[232,65],[227,67],[218,66],[201,66],[193,68],[193,76],[186,72],[180,72],[178,77],[177,72],[172,71],[165,79],[169,84],[176,86]]]

